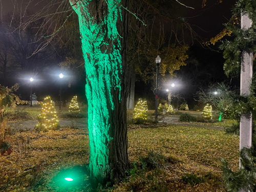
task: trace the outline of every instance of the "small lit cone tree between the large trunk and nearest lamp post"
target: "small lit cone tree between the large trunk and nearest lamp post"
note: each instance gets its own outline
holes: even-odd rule
[[[134,108],[134,120],[136,120],[137,123],[144,123],[147,120],[147,103],[146,100],[143,101],[143,99],[139,99],[137,104]]]

